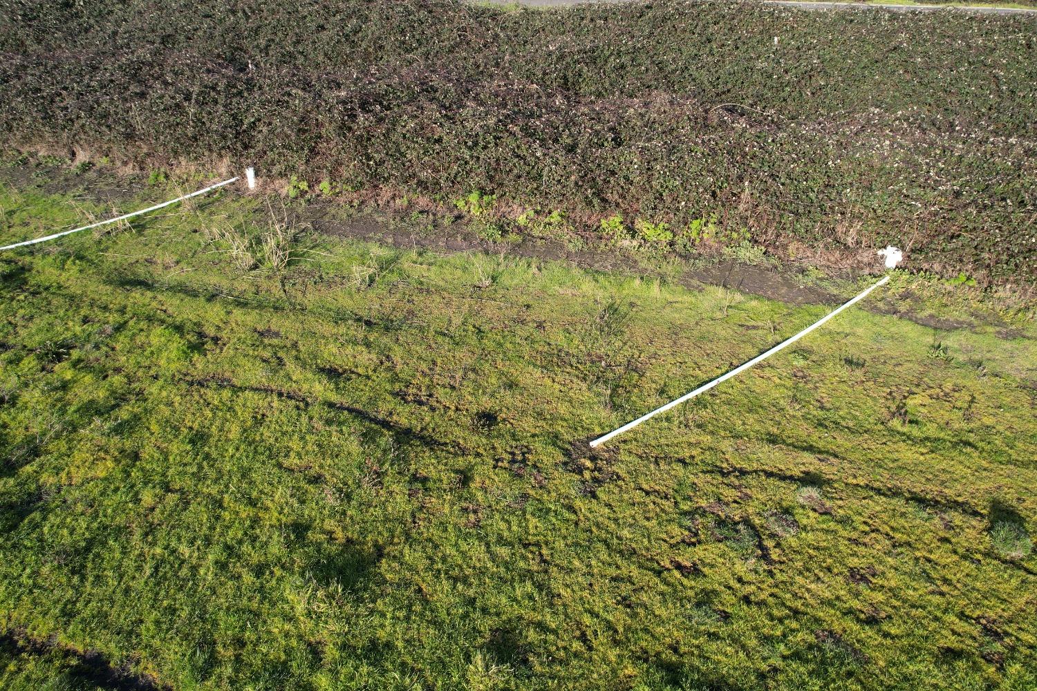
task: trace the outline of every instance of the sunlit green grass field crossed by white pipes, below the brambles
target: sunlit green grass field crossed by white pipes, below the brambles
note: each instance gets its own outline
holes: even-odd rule
[[[831,307],[268,217],[0,254],[0,687],[1037,685],[1032,311],[897,271],[591,454]]]

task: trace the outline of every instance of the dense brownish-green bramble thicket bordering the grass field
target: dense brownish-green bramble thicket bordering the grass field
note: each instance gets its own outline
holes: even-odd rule
[[[0,0],[0,133],[1037,277],[1037,19]],[[775,37],[778,45],[775,45]],[[736,234],[736,233],[735,233]]]

